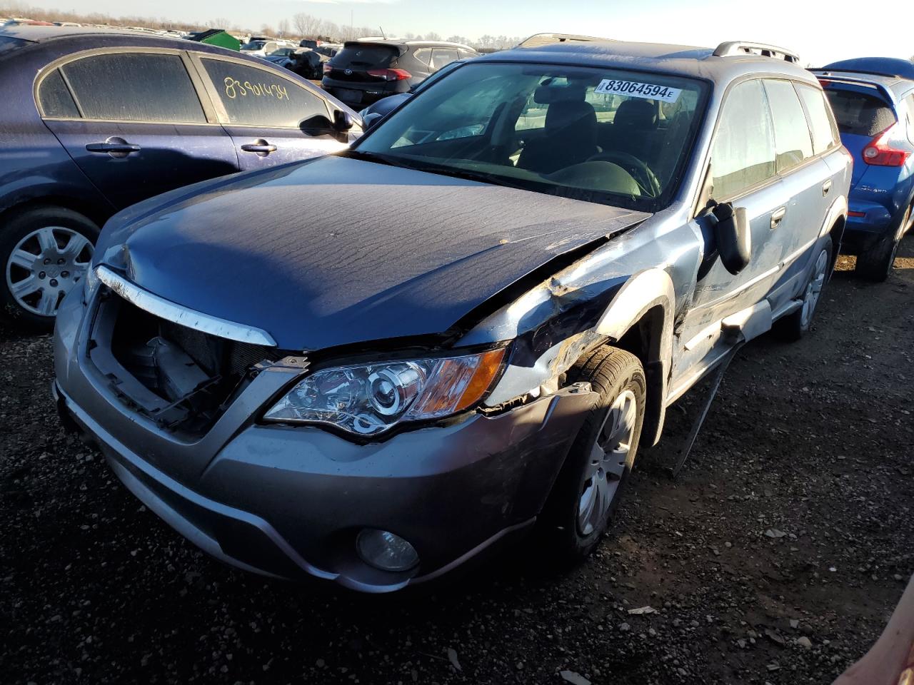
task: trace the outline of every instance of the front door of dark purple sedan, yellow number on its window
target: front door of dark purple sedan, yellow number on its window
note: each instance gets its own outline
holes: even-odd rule
[[[243,171],[335,153],[348,138],[333,128],[334,107],[282,71],[247,60],[195,56]]]

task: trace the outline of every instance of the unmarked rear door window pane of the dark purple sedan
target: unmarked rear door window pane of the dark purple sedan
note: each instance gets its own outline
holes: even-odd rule
[[[205,123],[197,90],[177,55],[118,52],[60,68],[86,119]]]

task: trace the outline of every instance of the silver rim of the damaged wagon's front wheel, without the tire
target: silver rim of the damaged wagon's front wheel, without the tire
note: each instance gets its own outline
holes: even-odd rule
[[[578,532],[598,530],[610,511],[632,451],[638,402],[626,390],[612,403],[590,449],[587,477],[578,501]]]

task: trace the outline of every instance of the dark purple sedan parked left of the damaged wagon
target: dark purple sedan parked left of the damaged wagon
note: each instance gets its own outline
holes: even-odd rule
[[[0,30],[0,92],[0,316],[39,329],[116,211],[332,153],[362,132],[354,111],[288,69],[128,31]],[[269,206],[258,213],[269,222]]]

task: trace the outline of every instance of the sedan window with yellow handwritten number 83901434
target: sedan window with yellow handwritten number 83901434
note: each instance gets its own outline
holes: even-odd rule
[[[298,128],[314,116],[328,116],[323,99],[277,73],[227,59],[202,61],[218,90],[228,123]]]

